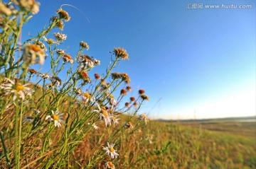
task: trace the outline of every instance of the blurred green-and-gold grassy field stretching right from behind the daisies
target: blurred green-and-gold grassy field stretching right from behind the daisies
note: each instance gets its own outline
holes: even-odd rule
[[[122,137],[122,156],[115,160],[116,168],[256,168],[255,123],[208,122],[198,126],[149,122]],[[81,166],[91,156],[85,151],[92,147],[88,143],[102,138],[99,131],[91,136],[76,150],[74,160]]]

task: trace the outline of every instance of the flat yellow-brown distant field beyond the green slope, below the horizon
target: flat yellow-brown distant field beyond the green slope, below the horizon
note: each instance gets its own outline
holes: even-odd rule
[[[216,132],[226,132],[230,134],[240,134],[256,138],[256,122],[238,121],[207,121],[207,122],[180,122],[180,124],[195,127],[198,129],[208,129]]]

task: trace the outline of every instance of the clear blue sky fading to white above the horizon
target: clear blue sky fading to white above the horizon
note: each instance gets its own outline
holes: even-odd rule
[[[68,35],[63,48],[75,56],[78,43],[87,42],[90,49],[86,54],[101,61],[101,66],[95,67],[100,74],[105,72],[114,47],[127,49],[129,61],[116,71],[129,74],[134,93],[144,88],[150,101],[141,112],[149,117],[256,115],[255,0],[40,2],[41,10],[23,28],[23,38],[48,25],[62,4],[76,6],[90,22],[77,9],[63,6],[71,16],[62,32]],[[198,3],[203,8],[191,8]],[[206,4],[252,7],[206,8]],[[47,64],[43,68],[47,69]]]

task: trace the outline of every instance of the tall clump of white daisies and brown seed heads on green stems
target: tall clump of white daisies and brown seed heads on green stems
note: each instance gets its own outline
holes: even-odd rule
[[[63,8],[48,27],[18,44],[21,31],[16,25],[22,27],[39,6],[34,0],[0,2],[0,166],[78,167],[77,161],[70,162],[76,158],[74,152],[97,132],[102,138],[94,139],[95,153],[87,156],[90,163],[79,167],[104,162],[105,168],[115,168],[114,159],[124,156],[119,151],[121,138],[131,135],[141,121],[148,122],[145,115],[134,117],[149,97],[143,90],[132,95],[129,75],[112,72],[128,59],[124,48],[114,48],[105,74],[93,72],[100,60],[86,54],[87,42],[78,42],[77,54],[63,48],[68,35],[52,33],[53,28],[64,30],[64,22],[70,21]],[[35,66],[45,63],[50,66]],[[110,129],[114,132],[106,134]]]

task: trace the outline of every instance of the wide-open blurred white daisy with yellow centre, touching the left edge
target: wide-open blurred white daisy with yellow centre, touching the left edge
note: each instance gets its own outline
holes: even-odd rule
[[[9,81],[10,83],[4,83],[0,86],[4,90],[5,95],[14,93],[13,100],[16,100],[17,95],[19,95],[19,98],[22,100],[25,99],[25,95],[31,96],[31,93],[34,92],[31,88],[28,88],[26,86],[30,85],[30,83],[26,83],[22,85],[18,82],[18,79],[10,80],[9,78],[5,78],[6,81]]]

